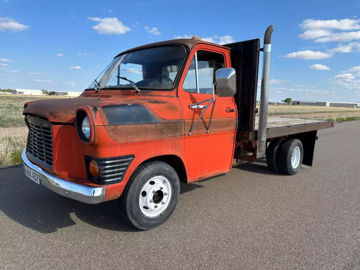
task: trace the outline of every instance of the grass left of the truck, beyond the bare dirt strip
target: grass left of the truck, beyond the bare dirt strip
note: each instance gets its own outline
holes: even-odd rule
[[[28,101],[66,98],[61,96],[0,95],[0,127],[25,126],[22,111]],[[67,97],[68,98],[68,97]]]

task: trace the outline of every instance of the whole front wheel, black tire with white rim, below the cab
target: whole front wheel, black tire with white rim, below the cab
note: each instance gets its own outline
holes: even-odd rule
[[[161,225],[175,210],[180,194],[179,176],[162,161],[141,165],[130,177],[120,197],[127,223],[140,230]]]

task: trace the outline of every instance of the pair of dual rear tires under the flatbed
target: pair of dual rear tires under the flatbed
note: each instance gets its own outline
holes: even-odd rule
[[[275,138],[267,148],[266,163],[273,172],[294,175],[300,170],[302,159],[303,147],[298,139]]]

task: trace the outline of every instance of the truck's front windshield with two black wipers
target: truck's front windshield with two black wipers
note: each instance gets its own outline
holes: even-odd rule
[[[185,57],[181,46],[171,45],[133,51],[120,55],[87,87],[100,89],[133,89],[137,87],[171,88]]]

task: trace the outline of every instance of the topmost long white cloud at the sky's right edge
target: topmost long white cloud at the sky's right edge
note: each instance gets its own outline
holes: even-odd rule
[[[341,20],[315,20],[305,19],[299,24],[302,29],[337,29],[337,30],[356,30],[360,29],[360,20],[341,19]]]

